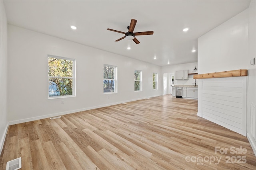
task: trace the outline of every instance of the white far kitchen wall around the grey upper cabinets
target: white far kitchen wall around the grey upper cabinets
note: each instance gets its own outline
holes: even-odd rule
[[[193,79],[193,75],[188,76],[188,80],[175,80],[175,71],[176,70],[188,70],[188,73],[195,73],[197,70],[194,70],[194,68],[197,68],[197,63],[186,63],[186,64],[176,64],[176,65],[170,65],[170,66],[162,66],[162,73],[174,73],[174,84],[175,85],[193,85],[192,83],[195,82],[195,79]],[[169,76],[170,78],[170,76]],[[197,84],[197,80],[196,80]]]

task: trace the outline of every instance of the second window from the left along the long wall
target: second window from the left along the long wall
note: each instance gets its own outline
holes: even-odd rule
[[[117,92],[117,79],[116,66],[110,66],[104,64],[103,66],[103,92],[104,93],[116,93]]]

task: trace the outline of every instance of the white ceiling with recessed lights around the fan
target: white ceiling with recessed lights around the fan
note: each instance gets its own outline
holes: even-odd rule
[[[12,25],[159,66],[168,61],[197,62],[197,52],[191,52],[197,50],[197,38],[249,4],[250,0],[4,0]],[[126,39],[115,42],[124,35],[107,28],[127,32],[132,18],[137,20],[134,32],[154,34],[136,36],[138,45]],[[189,28],[186,33],[185,27]]]

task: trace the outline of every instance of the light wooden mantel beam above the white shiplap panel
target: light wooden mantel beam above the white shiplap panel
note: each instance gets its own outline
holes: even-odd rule
[[[194,79],[247,76],[247,70],[231,70],[194,75]]]

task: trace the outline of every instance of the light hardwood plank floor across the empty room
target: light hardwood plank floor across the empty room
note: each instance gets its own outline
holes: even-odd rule
[[[256,170],[246,137],[171,95],[11,125],[0,169],[18,157],[21,170]]]

